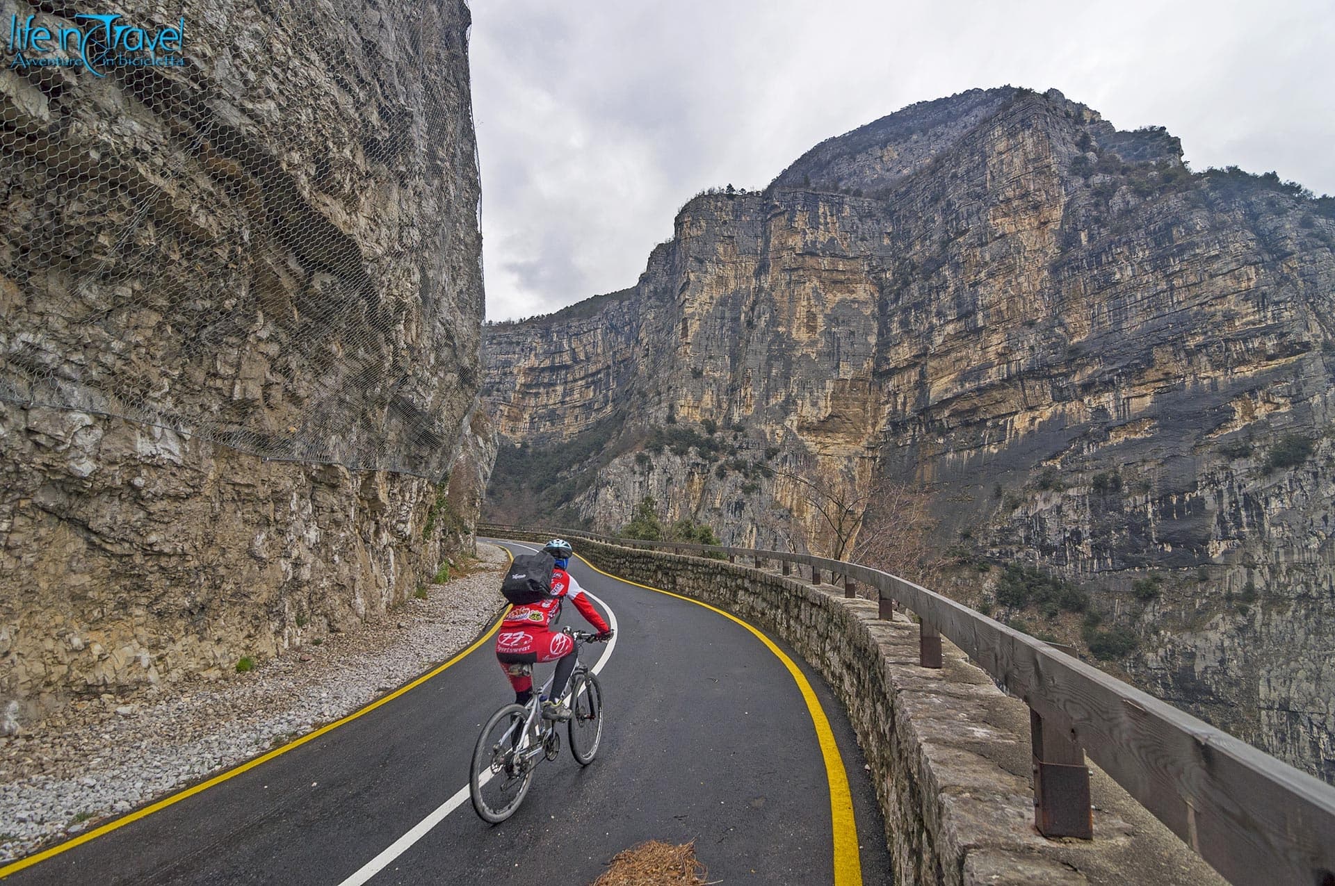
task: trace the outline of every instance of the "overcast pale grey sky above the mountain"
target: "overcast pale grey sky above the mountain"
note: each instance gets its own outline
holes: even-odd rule
[[[631,286],[677,209],[973,87],[1335,193],[1335,3],[473,0],[487,316]]]

